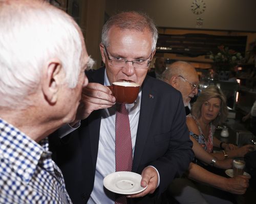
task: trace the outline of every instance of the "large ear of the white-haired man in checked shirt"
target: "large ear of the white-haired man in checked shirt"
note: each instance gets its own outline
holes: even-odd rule
[[[58,90],[63,84],[65,74],[59,60],[51,60],[44,70],[42,77],[42,92],[49,104],[55,104],[58,98]]]

